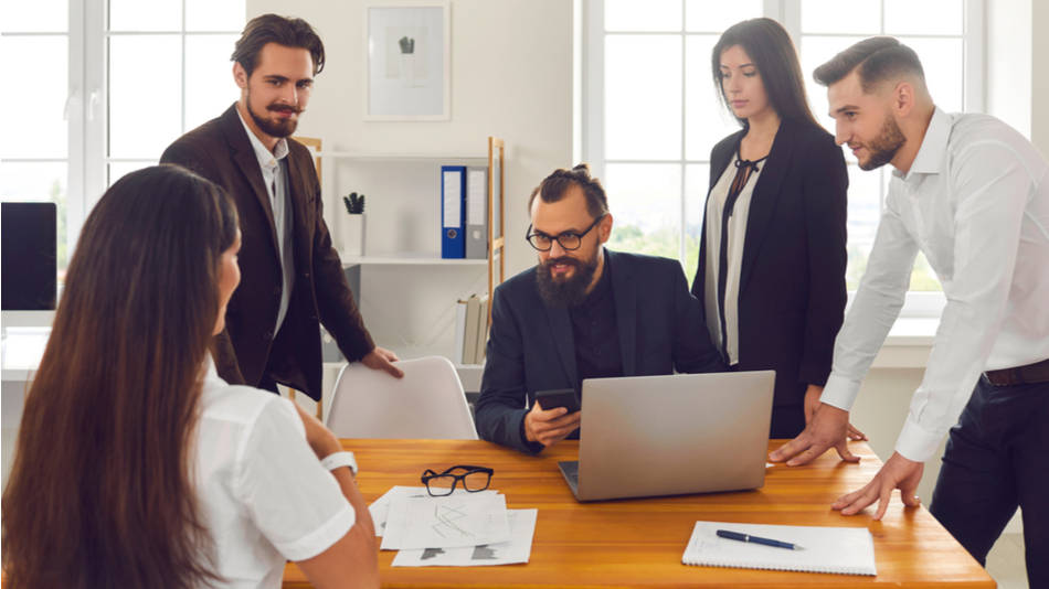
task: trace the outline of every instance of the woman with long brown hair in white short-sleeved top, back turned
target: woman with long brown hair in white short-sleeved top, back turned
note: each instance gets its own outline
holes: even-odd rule
[[[272,394],[230,386],[209,345],[240,281],[236,212],[178,167],[92,211],[25,399],[3,492],[18,587],[378,585],[374,528],[341,450]]]

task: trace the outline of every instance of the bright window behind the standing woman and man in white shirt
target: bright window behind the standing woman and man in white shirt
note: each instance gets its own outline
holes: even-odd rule
[[[878,34],[899,38],[921,56],[937,105],[983,109],[982,2],[975,0],[587,0],[584,39],[583,154],[608,192],[616,217],[611,247],[678,258],[696,274],[710,149],[739,130],[718,101],[710,52],[721,32],[750,18],[784,23],[798,47],[817,120],[833,132],[826,88],[815,67]],[[889,169],[849,163],[850,291],[859,283],[888,188]],[[908,309],[933,311],[942,294],[923,257],[915,263]]]

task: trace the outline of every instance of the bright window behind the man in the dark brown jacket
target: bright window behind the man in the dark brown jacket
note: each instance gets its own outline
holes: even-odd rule
[[[60,275],[87,212],[125,173],[239,93],[233,43],[245,0],[2,0],[9,138],[0,197],[59,204]]]

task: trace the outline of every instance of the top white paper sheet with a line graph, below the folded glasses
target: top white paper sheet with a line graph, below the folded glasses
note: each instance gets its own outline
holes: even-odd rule
[[[506,495],[394,495],[382,536],[383,550],[454,548],[510,539]]]

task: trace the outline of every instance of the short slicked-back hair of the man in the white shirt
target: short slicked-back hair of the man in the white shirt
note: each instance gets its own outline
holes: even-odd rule
[[[925,81],[925,71],[914,50],[891,36],[872,36],[856,43],[817,67],[813,77],[817,83],[829,86],[854,69],[859,73],[865,93],[870,93],[882,82],[900,74],[913,74]]]

